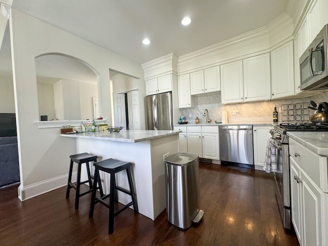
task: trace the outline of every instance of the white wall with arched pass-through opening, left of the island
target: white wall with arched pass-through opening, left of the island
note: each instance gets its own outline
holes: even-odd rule
[[[10,18],[15,107],[20,166],[19,198],[65,186],[75,139],[59,136],[58,128],[39,129],[35,57],[66,54],[83,61],[97,74],[99,108],[111,115],[109,69],[144,78],[140,65],[70,33],[12,9]]]

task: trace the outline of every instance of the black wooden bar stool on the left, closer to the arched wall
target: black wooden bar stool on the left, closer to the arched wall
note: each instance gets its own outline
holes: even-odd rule
[[[97,157],[98,156],[91,155],[89,153],[81,153],[81,154],[76,154],[76,155],[70,156],[71,162],[70,162],[70,169],[69,169],[69,173],[68,173],[66,199],[69,198],[69,196],[70,196],[71,188],[74,188],[76,190],[76,192],[75,192],[75,209],[78,209],[79,197],[92,192],[92,188],[96,187],[92,184],[92,179],[94,179],[94,177],[90,173],[89,161],[97,162]],[[73,171],[73,163],[74,162],[77,163],[76,185],[72,182],[72,171]],[[81,166],[83,163],[86,163],[88,179],[86,181],[81,182]],[[87,183],[87,182],[89,182],[89,190],[80,194],[80,185]],[[101,186],[96,187],[96,188],[99,188],[100,193],[104,194]]]

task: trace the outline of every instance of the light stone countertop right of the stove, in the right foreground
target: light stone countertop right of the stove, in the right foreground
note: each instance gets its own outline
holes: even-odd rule
[[[295,141],[318,155],[328,156],[328,132],[288,131],[287,136],[293,138]]]

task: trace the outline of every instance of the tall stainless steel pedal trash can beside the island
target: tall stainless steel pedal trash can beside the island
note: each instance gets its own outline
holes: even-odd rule
[[[167,156],[164,162],[168,221],[188,229],[204,214],[199,209],[199,156],[181,152]]]

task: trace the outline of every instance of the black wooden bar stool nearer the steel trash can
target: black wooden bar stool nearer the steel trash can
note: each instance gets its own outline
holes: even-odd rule
[[[131,175],[131,162],[125,162],[115,159],[106,159],[99,162],[93,163],[93,166],[95,167],[95,173],[94,173],[94,180],[93,185],[96,185],[96,182],[99,180],[99,171],[103,171],[106,173],[109,173],[111,175],[110,177],[110,193],[107,195],[101,195],[100,198],[96,196],[96,190],[92,191],[91,196],[91,203],[90,203],[90,211],[89,211],[89,218],[93,217],[93,210],[94,205],[97,202],[100,202],[105,207],[109,208],[109,226],[108,226],[108,233],[112,234],[114,232],[114,217],[121,213],[123,210],[129,208],[133,204],[133,210],[134,213],[138,213],[138,204],[136,200],[136,195],[133,187],[133,181],[132,181],[132,175]],[[129,187],[130,191],[127,191],[124,188],[116,186],[115,181],[115,173],[118,173],[120,171],[126,170],[128,175],[128,181],[129,181]],[[100,186],[100,184],[99,184]],[[117,212],[114,211],[114,203],[117,201],[117,191],[124,192],[132,197],[132,201],[128,203],[124,208],[118,210]],[[106,198],[109,197],[109,203],[105,201]]]

